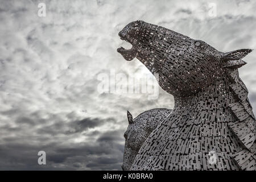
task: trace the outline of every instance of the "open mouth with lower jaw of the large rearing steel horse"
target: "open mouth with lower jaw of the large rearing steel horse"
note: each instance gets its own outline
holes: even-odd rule
[[[125,40],[126,42],[130,43],[125,37],[123,37],[121,34],[119,34],[120,36],[120,39],[121,40]],[[123,58],[125,58],[125,60],[127,61],[131,61],[133,60],[136,56],[137,56],[137,53],[138,53],[138,50],[137,48],[131,44],[132,47],[130,49],[125,49],[123,47],[119,47],[117,49],[117,52],[121,53],[121,55],[123,56]]]

